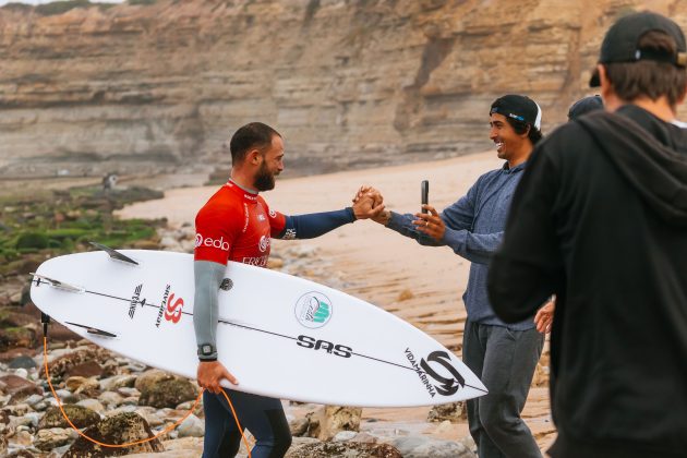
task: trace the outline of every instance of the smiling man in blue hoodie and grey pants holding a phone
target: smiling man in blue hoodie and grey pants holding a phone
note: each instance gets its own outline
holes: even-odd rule
[[[535,329],[533,313],[507,325],[496,317],[486,297],[489,263],[504,237],[510,197],[534,144],[542,138],[541,109],[528,97],[506,95],[492,104],[490,125],[490,138],[505,160],[503,167],[480,177],[467,195],[441,215],[426,205],[427,214],[385,210],[373,219],[420,244],[447,245],[472,263],[463,294],[468,320],[462,360],[484,383],[489,395],[468,401],[470,434],[481,458],[541,457],[520,412],[543,336]],[[361,189],[364,192],[370,190]]]

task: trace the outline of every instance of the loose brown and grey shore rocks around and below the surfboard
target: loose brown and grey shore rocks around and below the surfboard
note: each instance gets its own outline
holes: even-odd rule
[[[190,225],[160,227],[149,249],[191,252],[194,230]],[[138,242],[138,245],[141,242]],[[317,249],[303,244],[286,248],[270,258],[269,268],[313,276]],[[318,261],[320,262],[320,261]],[[8,457],[84,456],[200,456],[204,420],[201,406],[171,432],[158,439],[126,448],[95,445],[74,431],[62,417],[50,393],[45,369],[38,312],[22,290],[17,275],[5,281],[3,329],[9,333],[0,353],[0,455]],[[7,280],[7,278],[5,278]],[[329,277],[329,285],[346,286],[342,278]],[[10,323],[13,326],[8,327]],[[194,381],[146,367],[119,357],[51,324],[48,340],[50,379],[64,411],[85,435],[106,444],[135,442],[158,434],[182,419],[195,402],[200,388]],[[413,427],[377,427],[363,409],[303,405],[285,401],[293,445],[289,457],[473,457],[474,444],[468,436],[445,441]],[[426,422],[465,423],[461,405],[442,406],[430,412]],[[443,422],[443,423],[442,423]],[[418,430],[418,429],[415,429]],[[419,429],[422,430],[422,429]],[[250,435],[249,435],[250,437]],[[244,447],[241,455],[246,456]]]

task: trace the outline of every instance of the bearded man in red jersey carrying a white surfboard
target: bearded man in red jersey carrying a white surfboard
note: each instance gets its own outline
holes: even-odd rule
[[[228,261],[264,267],[273,238],[310,239],[355,219],[377,216],[384,205],[373,195],[335,212],[286,216],[269,208],[261,191],[275,188],[284,170],[284,141],[270,126],[253,122],[240,128],[230,143],[231,179],[201,208],[195,236],[195,302],[193,325],[198,346],[197,379],[206,388],[204,458],[236,456],[241,431],[221,395],[222,378],[238,385],[217,361],[218,291]],[[373,207],[373,203],[377,205]],[[291,445],[279,399],[227,391],[242,426],[256,439],[253,458],[282,457]]]

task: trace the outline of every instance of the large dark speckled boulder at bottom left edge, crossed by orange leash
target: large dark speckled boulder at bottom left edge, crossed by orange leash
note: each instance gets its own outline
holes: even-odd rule
[[[84,434],[104,444],[117,445],[147,439],[154,435],[148,423],[133,412],[120,413],[101,420],[86,429]],[[62,458],[113,457],[164,450],[159,439],[130,447],[103,447],[80,436]]]

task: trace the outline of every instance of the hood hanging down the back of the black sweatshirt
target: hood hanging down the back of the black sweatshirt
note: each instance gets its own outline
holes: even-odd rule
[[[627,105],[577,121],[666,222],[687,226],[687,129]]]

